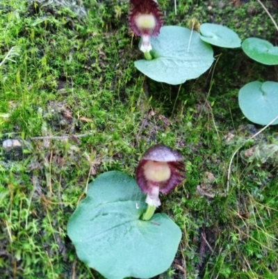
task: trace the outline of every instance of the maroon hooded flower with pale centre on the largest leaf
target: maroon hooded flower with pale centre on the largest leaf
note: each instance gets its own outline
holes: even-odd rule
[[[148,205],[158,207],[159,192],[169,193],[185,178],[183,157],[166,145],[157,144],[143,155],[136,170],[136,182],[143,193],[147,193]]]

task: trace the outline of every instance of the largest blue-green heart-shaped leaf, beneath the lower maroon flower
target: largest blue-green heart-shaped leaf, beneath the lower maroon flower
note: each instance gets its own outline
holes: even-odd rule
[[[79,259],[108,279],[151,278],[166,271],[181,230],[165,214],[141,221],[146,208],[133,178],[117,171],[97,177],[67,224]]]

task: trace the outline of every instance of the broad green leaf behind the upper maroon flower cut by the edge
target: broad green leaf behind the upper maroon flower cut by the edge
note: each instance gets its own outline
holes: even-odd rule
[[[196,79],[214,60],[211,46],[199,33],[180,26],[163,26],[151,45],[154,59],[136,61],[135,66],[154,81],[177,85]]]

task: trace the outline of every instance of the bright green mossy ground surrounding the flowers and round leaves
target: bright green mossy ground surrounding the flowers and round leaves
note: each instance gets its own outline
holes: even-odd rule
[[[0,141],[18,139],[23,150],[0,150],[1,278],[101,278],[76,257],[67,221],[88,182],[107,170],[133,175],[154,143],[180,150],[187,173],[184,185],[162,198],[160,210],[183,239],[160,278],[278,278],[277,166],[246,164],[238,154],[227,192],[240,143],[224,139],[230,131],[240,138],[238,127],[248,123],[238,89],[276,81],[275,67],[240,49],[215,48],[214,71],[182,86],[158,84],[133,66],[142,54],[126,26],[126,1],[85,1],[86,17],[55,1],[6,2],[0,61],[11,47],[20,51],[0,68]],[[166,24],[196,18],[275,43],[257,1],[177,2],[174,15],[173,3],[161,1]],[[265,4],[277,18],[272,1]],[[277,127],[263,135],[277,143]]]

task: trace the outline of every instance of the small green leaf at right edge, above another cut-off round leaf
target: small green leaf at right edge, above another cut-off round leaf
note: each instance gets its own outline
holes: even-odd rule
[[[247,56],[265,65],[278,65],[278,47],[259,38],[247,38],[243,41],[243,51]]]

